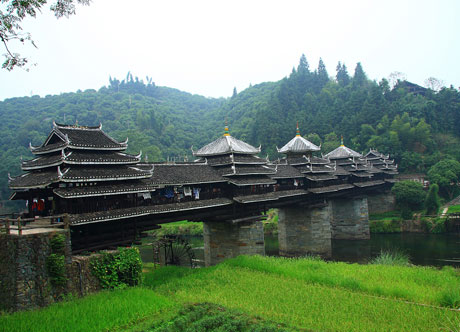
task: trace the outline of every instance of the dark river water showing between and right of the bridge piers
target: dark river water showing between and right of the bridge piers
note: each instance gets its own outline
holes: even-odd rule
[[[145,239],[144,243],[152,239]],[[203,238],[188,237],[198,265],[202,265]],[[409,256],[415,265],[460,267],[460,234],[371,234],[370,240],[332,240],[333,261],[367,263],[382,250],[399,250]],[[143,261],[153,261],[151,245],[140,246]],[[268,256],[278,256],[278,236],[265,235],[265,252]],[[201,263],[201,264],[200,264]]]

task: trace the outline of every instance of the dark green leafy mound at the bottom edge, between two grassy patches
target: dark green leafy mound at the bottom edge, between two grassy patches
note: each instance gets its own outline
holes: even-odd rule
[[[174,319],[145,332],[282,332],[290,329],[279,324],[265,322],[250,317],[238,310],[229,310],[223,306],[202,303],[188,305]]]

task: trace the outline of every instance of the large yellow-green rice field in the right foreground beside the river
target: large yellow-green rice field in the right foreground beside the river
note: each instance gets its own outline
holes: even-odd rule
[[[176,301],[211,302],[294,329],[439,331],[458,318],[458,312],[423,305],[439,305],[447,289],[459,286],[452,268],[239,257],[172,280],[161,270],[154,273],[164,283],[152,287]]]

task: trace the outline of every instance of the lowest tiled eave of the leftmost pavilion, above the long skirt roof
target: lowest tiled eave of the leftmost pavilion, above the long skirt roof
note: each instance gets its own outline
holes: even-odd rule
[[[71,188],[56,188],[53,192],[62,198],[92,197],[103,195],[120,195],[155,190],[154,185],[147,184],[146,180],[134,183],[120,183],[117,185],[84,186]]]

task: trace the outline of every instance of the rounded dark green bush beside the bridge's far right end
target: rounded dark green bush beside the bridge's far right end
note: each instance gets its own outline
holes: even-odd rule
[[[425,191],[421,183],[415,181],[400,181],[395,183],[391,192],[395,195],[396,204],[404,210],[419,210],[425,202]]]

